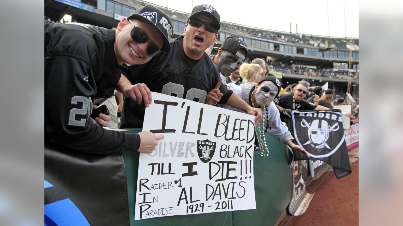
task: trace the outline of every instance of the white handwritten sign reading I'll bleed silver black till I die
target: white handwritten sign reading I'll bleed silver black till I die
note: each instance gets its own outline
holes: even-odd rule
[[[135,220],[256,209],[254,117],[152,92],[143,131],[164,134],[140,154]]]

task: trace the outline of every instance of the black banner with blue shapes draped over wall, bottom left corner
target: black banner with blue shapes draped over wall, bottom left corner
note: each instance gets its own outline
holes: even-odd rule
[[[122,153],[89,154],[45,142],[45,226],[130,225]]]

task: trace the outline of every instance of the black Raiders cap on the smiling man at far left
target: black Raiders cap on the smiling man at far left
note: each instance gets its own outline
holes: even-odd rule
[[[164,45],[162,50],[169,52],[171,50],[171,45],[169,44],[169,39],[172,36],[172,22],[169,16],[160,10],[159,8],[152,6],[150,4],[145,5],[138,10],[132,12],[127,19],[139,19],[149,23],[156,27],[157,31],[162,35],[164,40]]]

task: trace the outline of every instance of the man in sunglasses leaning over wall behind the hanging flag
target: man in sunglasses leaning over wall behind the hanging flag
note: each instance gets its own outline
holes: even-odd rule
[[[308,89],[303,84],[295,86],[294,92],[289,94],[279,95],[274,99],[274,103],[278,111],[280,111],[281,121],[286,121],[286,118],[291,118],[293,110],[329,110],[330,108],[320,105],[314,105],[305,100]]]

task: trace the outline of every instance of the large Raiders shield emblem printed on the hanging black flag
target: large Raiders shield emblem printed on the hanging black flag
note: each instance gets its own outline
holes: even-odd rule
[[[293,123],[295,140],[315,158],[332,155],[345,139],[339,112],[295,111]]]

